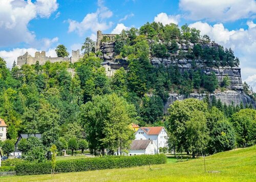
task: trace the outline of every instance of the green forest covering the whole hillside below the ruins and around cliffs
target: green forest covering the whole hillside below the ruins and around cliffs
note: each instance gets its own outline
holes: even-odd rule
[[[156,43],[149,44],[148,40]],[[198,44],[191,51],[177,53],[177,43],[181,40]],[[196,65],[195,70],[181,73],[177,66],[154,67],[150,62],[152,55],[162,58],[175,55],[200,57],[207,60],[208,66],[238,66],[239,60],[231,49],[206,46],[209,37],[200,37],[198,30],[187,25],[179,29],[175,24],[163,26],[155,22],[146,23],[139,30],[123,31],[116,41],[117,56],[127,58],[129,66],[127,71],[117,70],[113,77],[106,76],[98,57],[100,53],[94,53],[90,46],[74,64],[37,62],[19,68],[14,63],[10,70],[0,58],[0,118],[8,125],[8,139],[13,142],[18,134],[42,134],[40,141],[25,142],[24,151],[30,152],[28,155],[33,155],[28,148],[44,152],[56,144],[61,150],[76,140],[87,140],[91,153],[102,154],[104,149],[113,152],[119,147],[129,148],[133,139],[130,124],[138,123],[166,126],[172,139],[170,147],[194,153],[209,146],[215,149],[207,151],[214,153],[255,143],[256,114],[251,105],[227,106],[215,97],[212,100],[206,97],[204,101],[188,99],[175,102],[164,116],[163,103],[169,92],[212,93],[219,83],[214,72],[204,74]],[[74,69],[73,77],[68,68]],[[229,82],[226,77],[222,89]],[[175,112],[182,108],[184,112]],[[247,119],[243,120],[245,116]],[[202,127],[196,128],[195,124]],[[246,133],[241,133],[243,127]],[[219,130],[225,136],[220,136]],[[203,146],[195,146],[199,140],[204,141]],[[32,144],[37,148],[33,149]]]

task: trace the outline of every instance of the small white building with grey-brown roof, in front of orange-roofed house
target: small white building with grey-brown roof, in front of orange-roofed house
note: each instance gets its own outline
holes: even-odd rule
[[[153,140],[134,140],[128,155],[156,154],[157,146]]]

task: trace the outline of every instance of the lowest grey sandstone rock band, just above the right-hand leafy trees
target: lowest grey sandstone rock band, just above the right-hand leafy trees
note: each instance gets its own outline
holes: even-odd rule
[[[248,95],[241,93],[239,91],[234,90],[227,90],[224,92],[216,92],[214,94],[210,94],[209,98],[212,99],[212,96],[216,96],[216,99],[220,99],[223,103],[227,105],[231,105],[233,102],[234,106],[240,105],[242,102],[245,106],[246,103],[251,103],[254,108],[256,108],[256,102],[251,99]],[[187,97],[185,95],[179,95],[177,93],[170,93],[167,101],[164,103],[164,113],[167,113],[167,109],[169,106],[176,100],[184,100],[186,98],[196,98],[199,100],[203,100],[206,94],[198,94],[198,93],[191,93]]]

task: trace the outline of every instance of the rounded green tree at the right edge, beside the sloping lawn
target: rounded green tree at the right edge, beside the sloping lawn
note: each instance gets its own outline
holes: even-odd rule
[[[236,131],[239,147],[247,147],[256,143],[256,110],[242,109],[232,115],[230,122]]]

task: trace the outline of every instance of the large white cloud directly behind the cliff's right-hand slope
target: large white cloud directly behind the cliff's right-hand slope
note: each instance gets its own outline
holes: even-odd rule
[[[207,34],[217,43],[234,50],[234,54],[240,59],[242,79],[245,80],[256,72],[256,24],[247,22],[248,29],[227,30],[222,23],[213,26],[201,21],[190,24],[201,31],[201,35]],[[256,91],[256,90],[255,90]]]

